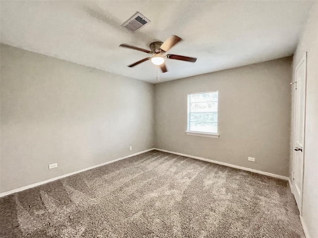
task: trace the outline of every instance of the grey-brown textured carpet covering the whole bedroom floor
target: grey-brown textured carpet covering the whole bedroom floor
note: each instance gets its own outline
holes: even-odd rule
[[[156,150],[0,206],[0,237],[305,237],[286,181]]]

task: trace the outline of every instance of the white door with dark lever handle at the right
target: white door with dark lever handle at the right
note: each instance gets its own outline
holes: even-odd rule
[[[295,137],[294,137],[294,196],[300,214],[302,213],[305,142],[305,104],[307,52],[296,67],[295,94]]]

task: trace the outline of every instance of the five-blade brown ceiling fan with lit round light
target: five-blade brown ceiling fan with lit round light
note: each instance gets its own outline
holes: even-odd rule
[[[172,35],[169,37],[165,42],[156,41],[149,45],[150,50],[145,50],[142,48],[138,48],[135,46],[130,46],[127,44],[121,44],[120,47],[125,47],[137,51],[146,52],[148,54],[152,54],[152,57],[147,57],[143,60],[139,60],[133,64],[128,65],[128,67],[134,67],[137,64],[140,64],[142,62],[145,62],[147,60],[151,60],[152,63],[159,65],[162,72],[165,73],[167,71],[167,68],[165,66],[165,59],[171,59],[171,60],[183,60],[183,61],[189,61],[189,62],[195,62],[197,59],[192,57],[186,57],[186,56],[178,56],[178,55],[164,55],[168,50],[170,50],[175,44],[182,41],[182,39],[178,36]]]

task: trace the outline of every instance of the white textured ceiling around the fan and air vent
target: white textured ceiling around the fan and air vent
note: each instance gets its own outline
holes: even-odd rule
[[[313,1],[1,1],[1,43],[157,83],[149,49],[171,35],[183,39],[168,53],[160,81],[291,56]],[[121,26],[136,11],[151,23],[131,33]]]

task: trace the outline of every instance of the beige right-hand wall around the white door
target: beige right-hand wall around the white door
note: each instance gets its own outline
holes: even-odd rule
[[[306,29],[294,54],[293,72],[307,54],[307,93],[306,93],[306,128],[305,128],[305,171],[302,219],[304,230],[309,238],[318,237],[318,2],[313,5]],[[295,81],[295,75],[294,80]],[[294,104],[293,91],[292,102]],[[294,114],[292,113],[292,118]],[[292,122],[292,128],[294,127]],[[291,134],[293,151],[293,131]],[[290,159],[290,177],[293,171],[293,154]]]

